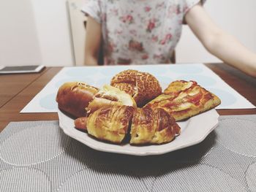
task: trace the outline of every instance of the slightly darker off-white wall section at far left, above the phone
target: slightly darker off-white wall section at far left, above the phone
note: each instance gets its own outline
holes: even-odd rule
[[[38,64],[42,60],[30,0],[0,4],[0,65]]]

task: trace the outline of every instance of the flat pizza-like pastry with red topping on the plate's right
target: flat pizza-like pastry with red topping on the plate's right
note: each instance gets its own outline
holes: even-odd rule
[[[217,96],[197,85],[197,82],[176,81],[146,106],[162,108],[176,120],[184,120],[217,107],[220,102]]]

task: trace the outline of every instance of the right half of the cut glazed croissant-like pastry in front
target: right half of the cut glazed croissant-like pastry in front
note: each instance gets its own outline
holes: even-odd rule
[[[172,141],[181,128],[165,110],[150,107],[138,108],[134,112],[130,143],[162,144]]]

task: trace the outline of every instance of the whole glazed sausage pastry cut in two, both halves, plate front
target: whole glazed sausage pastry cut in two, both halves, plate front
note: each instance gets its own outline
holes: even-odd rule
[[[130,125],[131,131],[128,133]],[[91,113],[89,118],[76,119],[75,127],[80,131],[87,130],[98,139],[114,143],[121,143],[130,134],[132,145],[170,142],[181,131],[175,119],[165,110],[151,110],[149,107],[135,110],[133,107],[118,105],[102,107]]]

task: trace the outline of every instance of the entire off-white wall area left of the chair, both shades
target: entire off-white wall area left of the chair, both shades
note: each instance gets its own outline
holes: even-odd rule
[[[2,0],[0,66],[71,66],[72,38],[65,0]]]

